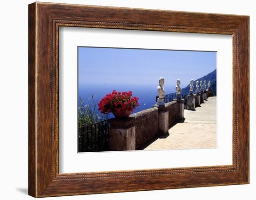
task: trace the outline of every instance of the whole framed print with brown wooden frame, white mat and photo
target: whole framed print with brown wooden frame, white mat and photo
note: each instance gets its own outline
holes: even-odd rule
[[[34,197],[249,183],[249,17],[29,5]]]

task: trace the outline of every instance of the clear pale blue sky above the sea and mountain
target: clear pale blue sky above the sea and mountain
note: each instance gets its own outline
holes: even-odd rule
[[[165,78],[167,93],[216,69],[216,52],[78,47],[79,89],[156,88]],[[115,88],[117,87],[117,88]]]

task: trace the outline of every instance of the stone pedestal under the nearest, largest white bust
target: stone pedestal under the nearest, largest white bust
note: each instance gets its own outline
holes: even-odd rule
[[[169,132],[169,111],[166,105],[153,105],[158,108],[158,135],[165,135]]]

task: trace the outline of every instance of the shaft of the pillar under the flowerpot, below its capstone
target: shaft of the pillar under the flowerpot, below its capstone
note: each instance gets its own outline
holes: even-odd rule
[[[110,127],[108,146],[111,151],[135,150],[135,126],[128,129]]]

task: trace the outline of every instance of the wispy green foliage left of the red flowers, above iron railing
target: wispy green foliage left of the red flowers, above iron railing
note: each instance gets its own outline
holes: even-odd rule
[[[91,94],[91,98],[86,99],[86,103],[79,97],[78,107],[78,126],[85,126],[93,123],[97,123],[108,119],[108,115],[101,114],[97,110],[97,102],[94,100],[94,94]]]

